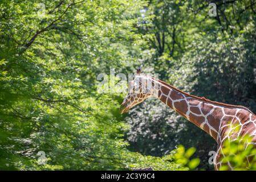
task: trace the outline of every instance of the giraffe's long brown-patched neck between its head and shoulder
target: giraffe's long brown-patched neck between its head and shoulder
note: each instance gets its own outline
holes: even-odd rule
[[[161,82],[155,81],[155,85],[159,85],[157,87],[159,100],[200,127],[218,142],[221,118],[216,113],[216,106],[208,104],[204,99],[190,97],[189,94],[179,92],[178,89],[170,88]]]

